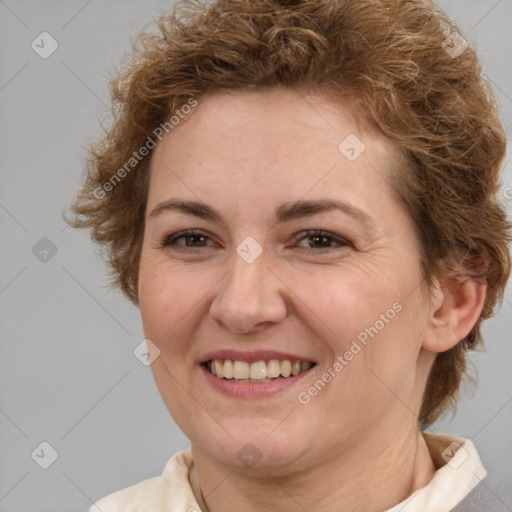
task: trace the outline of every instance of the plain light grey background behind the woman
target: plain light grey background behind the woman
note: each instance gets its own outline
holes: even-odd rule
[[[81,147],[99,132],[108,73],[169,4],[0,0],[0,511],[84,511],[160,474],[188,446],[133,355],[143,339],[137,309],[109,290],[88,234],[61,216],[80,179]],[[510,137],[512,0],[439,4],[477,48]],[[59,44],[47,59],[31,48],[43,31]],[[512,189],[503,202],[510,212]],[[511,311],[509,286],[485,325],[487,351],[474,358],[477,390],[466,388],[457,416],[433,429],[474,441],[504,510],[512,510],[504,491],[512,483]],[[46,470],[31,457],[43,441],[58,452]]]

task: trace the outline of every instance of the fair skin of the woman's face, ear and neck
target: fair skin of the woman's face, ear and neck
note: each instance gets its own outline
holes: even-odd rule
[[[349,161],[338,146],[353,134],[366,149]],[[343,503],[378,511],[432,478],[417,424],[422,393],[435,353],[477,320],[485,285],[422,291],[412,221],[386,181],[393,156],[346,105],[281,88],[208,93],[155,149],[140,310],[160,350],[157,386],[191,441],[191,481],[204,510],[334,511]],[[176,210],[151,215],[171,198],[205,202],[225,224]],[[340,211],[276,223],[282,203],[315,199],[345,201],[373,227]],[[207,238],[163,245],[186,229]],[[334,238],[319,242],[305,230]],[[236,252],[248,236],[263,249],[252,263]],[[299,403],[396,303],[400,312]],[[316,366],[282,393],[232,398],[199,364],[223,349],[277,350]],[[261,454],[253,467],[237,457],[246,443]]]

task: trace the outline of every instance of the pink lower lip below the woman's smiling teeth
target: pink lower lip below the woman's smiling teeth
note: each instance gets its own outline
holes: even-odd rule
[[[252,382],[237,382],[232,379],[220,379],[209,372],[204,366],[201,366],[206,380],[211,386],[231,398],[264,398],[282,393],[300,382],[313,368],[299,373],[298,375],[294,375],[293,377],[257,384]]]

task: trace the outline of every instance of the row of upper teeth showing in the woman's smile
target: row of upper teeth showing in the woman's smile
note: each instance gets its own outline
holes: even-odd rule
[[[313,363],[271,359],[270,361],[232,361],[214,359],[207,365],[208,369],[219,378],[237,380],[263,380],[277,377],[289,377],[309,370]]]

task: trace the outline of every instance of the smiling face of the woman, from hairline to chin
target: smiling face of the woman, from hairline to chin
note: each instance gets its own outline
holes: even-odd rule
[[[346,106],[287,89],[210,93],[158,144],[140,309],[197,453],[307,468],[417,424],[429,310],[393,162]]]

